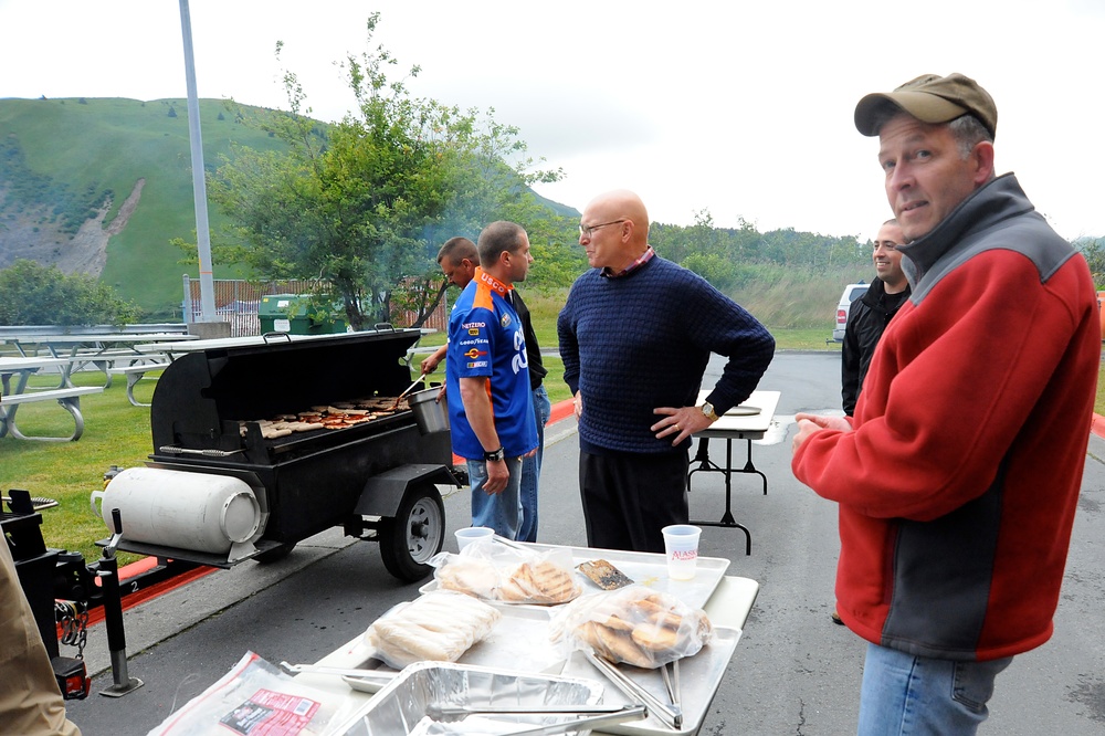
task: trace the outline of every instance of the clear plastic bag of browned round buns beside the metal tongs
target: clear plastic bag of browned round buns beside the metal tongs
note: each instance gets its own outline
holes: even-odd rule
[[[634,585],[569,603],[551,630],[554,641],[566,639],[611,662],[653,669],[696,654],[713,627],[704,611]]]

